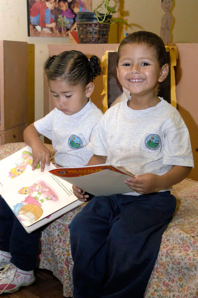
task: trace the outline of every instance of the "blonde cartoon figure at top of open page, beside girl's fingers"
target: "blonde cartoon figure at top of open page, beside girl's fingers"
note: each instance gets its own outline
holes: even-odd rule
[[[28,165],[32,165],[33,162],[33,155],[31,152],[29,151],[23,151],[22,152],[22,158],[19,158],[16,160],[16,167],[13,168],[10,172],[9,172],[9,177],[11,177],[11,179],[18,177],[19,175],[23,174],[26,167]],[[37,165],[37,169],[40,169],[40,163]]]

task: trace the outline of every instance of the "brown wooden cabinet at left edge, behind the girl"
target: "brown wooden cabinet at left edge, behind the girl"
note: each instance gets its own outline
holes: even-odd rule
[[[28,43],[0,41],[1,144],[23,141],[28,121]]]

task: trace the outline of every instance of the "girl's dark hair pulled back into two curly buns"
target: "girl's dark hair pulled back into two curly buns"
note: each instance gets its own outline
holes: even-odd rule
[[[61,79],[70,85],[85,87],[101,75],[100,59],[97,56],[87,58],[79,51],[65,51],[48,58],[44,65],[48,80]]]

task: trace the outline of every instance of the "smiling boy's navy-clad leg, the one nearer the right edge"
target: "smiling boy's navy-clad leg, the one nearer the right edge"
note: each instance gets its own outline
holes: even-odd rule
[[[126,208],[120,203],[107,238],[108,281],[101,297],[143,298],[176,199],[167,191],[133,197]]]

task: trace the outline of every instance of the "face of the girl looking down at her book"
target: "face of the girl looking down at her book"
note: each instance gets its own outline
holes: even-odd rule
[[[94,84],[91,82],[85,88],[81,85],[70,85],[61,79],[49,81],[55,107],[65,115],[78,113],[88,102]]]

